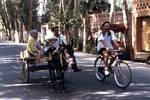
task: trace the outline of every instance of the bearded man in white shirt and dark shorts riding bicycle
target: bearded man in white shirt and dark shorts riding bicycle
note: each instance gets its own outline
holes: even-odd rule
[[[97,36],[97,51],[99,54],[101,54],[104,57],[104,63],[105,63],[105,75],[109,75],[111,71],[111,65],[115,61],[116,56],[113,56],[113,52],[111,52],[111,49],[113,48],[113,45],[115,45],[117,48],[119,47],[117,43],[117,38],[114,34],[114,32],[111,30],[110,22],[106,21],[101,26],[101,32],[98,33]],[[110,59],[110,63],[108,63],[108,57],[112,57]]]

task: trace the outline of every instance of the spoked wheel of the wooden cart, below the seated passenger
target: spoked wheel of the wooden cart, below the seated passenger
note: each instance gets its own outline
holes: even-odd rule
[[[29,77],[30,77],[30,71],[29,71],[29,66],[27,62],[24,62],[22,64],[22,78],[23,81],[26,83],[29,83]]]

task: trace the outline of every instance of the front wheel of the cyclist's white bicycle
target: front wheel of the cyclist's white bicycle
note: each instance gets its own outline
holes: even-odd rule
[[[114,79],[120,88],[127,88],[130,85],[132,73],[127,63],[118,62],[114,67]]]

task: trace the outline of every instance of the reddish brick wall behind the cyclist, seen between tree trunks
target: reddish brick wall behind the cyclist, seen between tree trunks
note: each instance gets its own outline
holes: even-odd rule
[[[132,26],[132,14],[131,12],[128,14],[130,16],[130,25]],[[109,13],[103,13],[103,14],[90,14],[86,18],[86,32],[90,34],[92,30],[99,30],[102,23],[105,21],[109,21]],[[116,12],[114,16],[114,23],[115,24],[123,24],[123,12]],[[132,31],[132,29],[130,30]],[[132,33],[132,32],[131,32]]]

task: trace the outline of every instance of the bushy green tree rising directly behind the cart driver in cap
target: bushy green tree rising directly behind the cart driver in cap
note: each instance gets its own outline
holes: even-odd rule
[[[45,14],[42,17],[42,23],[49,22],[49,26],[58,25],[67,36],[68,42],[82,24],[82,18],[77,9],[77,1],[75,0],[47,0],[45,6]],[[75,39],[74,39],[75,40]]]

